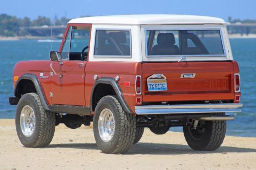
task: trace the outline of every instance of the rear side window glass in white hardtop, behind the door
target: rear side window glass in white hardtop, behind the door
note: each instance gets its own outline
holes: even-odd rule
[[[96,30],[94,56],[131,57],[131,31]]]

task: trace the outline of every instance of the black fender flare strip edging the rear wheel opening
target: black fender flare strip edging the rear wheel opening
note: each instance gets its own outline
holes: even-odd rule
[[[92,88],[92,92],[91,92],[91,102],[90,102],[91,111],[94,111],[93,110],[93,96],[94,96],[94,92],[95,92],[95,87],[98,84],[109,84],[109,85],[111,85],[113,87],[113,89],[115,90],[116,95],[117,95],[117,99],[120,102],[124,111],[126,113],[133,114],[133,112],[131,111],[131,109],[126,104],[125,100],[123,99],[123,92],[122,92],[118,82],[114,78],[100,78],[94,83],[93,88]]]

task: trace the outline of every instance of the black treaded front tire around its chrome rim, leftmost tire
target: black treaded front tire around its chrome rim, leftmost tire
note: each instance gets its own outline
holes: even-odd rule
[[[35,129],[30,137],[25,136],[20,127],[20,114],[26,105],[32,107],[35,114]],[[54,135],[55,114],[42,108],[41,101],[36,93],[27,93],[18,102],[15,124],[18,138],[25,147],[46,147],[50,144]]]

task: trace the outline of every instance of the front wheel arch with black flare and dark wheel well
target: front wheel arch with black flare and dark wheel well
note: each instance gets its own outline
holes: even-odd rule
[[[24,74],[23,76],[21,76],[18,79],[16,86],[14,88],[14,95],[18,99],[20,99],[23,94],[29,92],[37,93],[40,98],[42,107],[44,107],[45,110],[51,110],[46,101],[45,95],[42,92],[41,85],[34,74]]]

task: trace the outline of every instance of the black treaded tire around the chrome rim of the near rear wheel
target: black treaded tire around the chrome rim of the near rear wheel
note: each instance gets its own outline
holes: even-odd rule
[[[101,139],[98,129],[99,115],[103,109],[109,109],[115,119],[115,132],[110,141]],[[108,154],[119,154],[128,151],[136,135],[135,115],[126,113],[115,96],[107,95],[100,99],[93,116],[93,132],[98,148]]]

